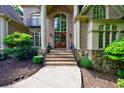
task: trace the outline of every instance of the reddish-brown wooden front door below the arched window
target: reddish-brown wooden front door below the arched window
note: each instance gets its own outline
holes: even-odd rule
[[[55,48],[66,48],[66,32],[55,32]]]

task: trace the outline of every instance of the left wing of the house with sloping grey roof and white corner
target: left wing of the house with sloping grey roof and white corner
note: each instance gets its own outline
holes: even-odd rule
[[[10,5],[0,5],[0,50],[5,48],[3,38],[14,31],[28,32],[22,17]]]

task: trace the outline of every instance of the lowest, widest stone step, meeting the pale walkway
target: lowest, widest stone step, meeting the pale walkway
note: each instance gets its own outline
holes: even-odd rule
[[[45,63],[46,65],[51,65],[51,66],[53,66],[53,65],[57,65],[57,66],[61,66],[61,65],[65,65],[65,66],[67,66],[67,65],[70,65],[70,66],[76,66],[77,65],[77,63],[76,62],[46,62]]]

